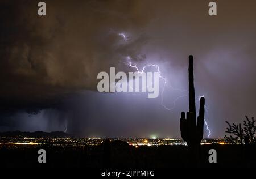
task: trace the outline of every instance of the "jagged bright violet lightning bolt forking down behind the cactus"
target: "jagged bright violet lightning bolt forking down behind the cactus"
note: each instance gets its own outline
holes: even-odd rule
[[[125,41],[127,41],[127,37],[126,37],[125,33],[118,33],[118,35],[121,36]],[[162,73],[161,73],[161,71],[160,71],[159,65],[154,65],[154,64],[149,63],[149,64],[143,66],[143,67],[142,67],[142,70],[139,70],[138,67],[137,67],[137,64],[133,65],[133,64],[131,63],[131,61],[130,61],[130,60],[131,60],[130,56],[127,56],[127,59],[128,59],[129,62],[128,62],[128,63],[125,63],[125,64],[128,65],[128,66],[130,66],[130,67],[133,67],[134,69],[136,69],[139,74],[142,74],[142,73],[144,72],[144,70],[146,69],[146,67],[148,67],[148,66],[153,66],[153,67],[155,67],[155,68],[158,70],[159,78],[161,78],[161,79],[163,80],[163,82],[164,82],[163,90],[162,90],[162,92],[161,92],[161,105],[163,106],[164,109],[167,109],[167,110],[172,110],[172,109],[174,109],[175,106],[176,106],[176,101],[179,100],[179,99],[181,99],[182,97],[187,96],[187,95],[178,96],[178,97],[172,102],[172,103],[173,103],[173,106],[172,106],[171,108],[168,108],[168,107],[164,104],[164,100],[163,100],[163,93],[164,93],[164,90],[165,90],[166,85],[167,85],[167,78],[164,78],[164,77],[162,76]],[[173,90],[177,90],[177,91],[180,91],[180,92],[187,91],[187,90],[180,90],[180,89],[174,88],[174,87],[172,87],[172,86],[171,86],[171,88],[172,88]],[[200,98],[201,98],[201,97],[204,97],[204,95],[203,95],[203,96],[199,96],[199,99],[197,99],[196,101],[200,101]],[[204,106],[204,107],[205,107],[205,109],[206,109],[206,112],[209,114],[207,106]],[[207,121],[206,121],[205,119],[204,119],[204,122],[205,122],[206,129],[207,129],[207,131],[208,131],[207,138],[209,138],[209,136],[210,136],[210,134],[211,134],[211,133],[210,133],[210,129],[209,129],[208,124],[207,124]]]

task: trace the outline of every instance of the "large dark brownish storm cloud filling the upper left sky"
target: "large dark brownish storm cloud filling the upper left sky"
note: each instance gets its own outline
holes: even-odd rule
[[[137,33],[148,21],[133,1],[46,4],[47,16],[40,17],[35,1],[1,2],[0,99],[5,108],[46,108],[67,93],[96,90],[97,73],[135,54],[144,41],[138,36],[129,46],[116,45],[122,40],[118,33]]]

